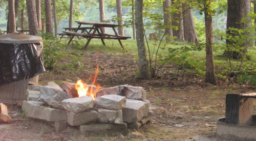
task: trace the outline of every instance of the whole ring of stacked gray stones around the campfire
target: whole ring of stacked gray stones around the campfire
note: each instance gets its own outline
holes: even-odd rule
[[[29,86],[23,102],[26,116],[55,122],[58,132],[69,125],[79,126],[81,133],[96,134],[127,134],[127,129],[139,129],[152,120],[142,87],[122,85],[99,89],[92,97],[76,97],[75,83],[62,82],[60,86],[54,82],[46,87]],[[90,88],[90,93],[97,90],[93,85]]]

